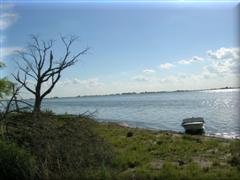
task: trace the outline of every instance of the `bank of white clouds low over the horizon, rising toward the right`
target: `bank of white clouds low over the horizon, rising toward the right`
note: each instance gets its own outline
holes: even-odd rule
[[[96,95],[121,92],[169,91],[177,89],[239,86],[239,75],[236,74],[236,72],[240,70],[239,49],[224,48],[224,51],[228,52],[228,55],[226,55],[226,53],[225,55],[224,53],[219,53],[220,49],[209,51],[211,52],[209,54],[210,59],[208,58],[204,66],[199,66],[199,68],[202,67],[200,72],[187,73],[175,71],[173,75],[171,73],[154,73],[151,71],[153,69],[146,68],[135,76],[131,77],[129,74],[126,74],[124,78],[121,77],[119,80],[115,79],[115,81],[108,83],[101,82],[99,78],[67,79],[59,81],[50,96]],[[162,76],[159,76],[159,74]]]

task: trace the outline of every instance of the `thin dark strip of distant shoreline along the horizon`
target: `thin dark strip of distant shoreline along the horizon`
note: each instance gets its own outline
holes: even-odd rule
[[[58,99],[58,98],[80,98],[80,97],[104,97],[104,96],[126,96],[126,95],[141,95],[141,94],[158,94],[158,93],[176,93],[176,92],[193,92],[193,91],[207,91],[207,90],[223,90],[223,89],[240,89],[240,87],[222,87],[222,88],[210,88],[210,89],[193,89],[193,90],[174,90],[174,91],[145,91],[145,92],[123,92],[115,94],[104,95],[78,95],[78,96],[65,96],[65,97],[49,97],[45,99]],[[30,98],[32,99],[32,98]]]

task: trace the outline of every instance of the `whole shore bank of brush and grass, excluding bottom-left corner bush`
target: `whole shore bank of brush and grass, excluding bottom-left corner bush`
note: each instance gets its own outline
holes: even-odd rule
[[[36,161],[35,179],[238,179],[240,142],[98,123],[87,117],[17,114],[2,130]]]

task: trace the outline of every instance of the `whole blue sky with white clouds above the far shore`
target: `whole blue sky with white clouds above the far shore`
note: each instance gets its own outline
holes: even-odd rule
[[[54,57],[63,55],[60,34],[79,36],[72,52],[90,47],[50,97],[239,86],[238,1],[25,0],[0,9],[2,77],[17,72],[15,51],[30,34],[54,39]]]

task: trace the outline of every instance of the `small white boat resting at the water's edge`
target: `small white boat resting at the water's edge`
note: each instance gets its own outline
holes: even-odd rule
[[[182,126],[185,131],[203,131],[204,130],[204,120],[201,117],[192,117],[183,119]]]

